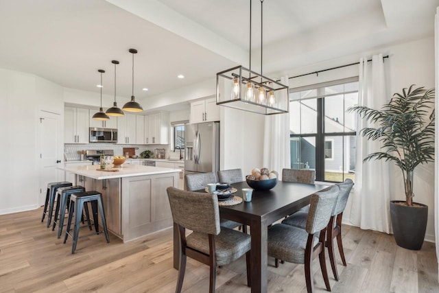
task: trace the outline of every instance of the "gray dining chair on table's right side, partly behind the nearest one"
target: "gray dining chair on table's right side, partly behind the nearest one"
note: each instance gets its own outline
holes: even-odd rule
[[[335,264],[335,253],[333,246],[333,239],[337,238],[338,251],[340,252],[340,257],[342,258],[343,266],[346,266],[346,259],[344,257],[343,243],[342,243],[342,218],[343,211],[346,208],[346,203],[348,202],[349,194],[351,194],[351,189],[354,185],[353,180],[346,179],[343,183],[335,184],[340,188],[337,203],[335,204],[334,211],[331,215],[331,220],[329,221],[327,230],[327,247],[329,260],[331,261],[331,268],[334,274],[334,279],[338,281],[339,275],[337,272],[337,266]],[[306,222],[308,218],[307,211],[298,211],[290,215],[288,218],[282,221],[283,224],[290,226],[296,226],[298,228],[305,229]]]

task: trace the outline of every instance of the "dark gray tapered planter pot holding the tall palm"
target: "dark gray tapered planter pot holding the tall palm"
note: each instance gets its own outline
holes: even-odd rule
[[[428,207],[417,202],[421,207],[407,207],[396,202],[402,201],[390,201],[390,218],[396,244],[410,250],[420,250],[427,228]]]

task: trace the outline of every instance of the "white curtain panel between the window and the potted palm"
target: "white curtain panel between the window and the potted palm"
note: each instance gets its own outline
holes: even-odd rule
[[[383,56],[361,58],[359,64],[359,105],[376,110],[387,102],[384,80]],[[355,186],[351,209],[351,222],[364,229],[390,233],[390,187],[389,163],[373,160],[363,163],[367,154],[379,152],[378,141],[368,141],[359,135],[359,130],[370,125],[357,117],[357,163]]]

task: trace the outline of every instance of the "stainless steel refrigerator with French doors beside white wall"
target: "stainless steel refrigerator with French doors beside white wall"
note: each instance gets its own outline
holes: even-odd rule
[[[219,122],[186,124],[185,173],[219,170]]]

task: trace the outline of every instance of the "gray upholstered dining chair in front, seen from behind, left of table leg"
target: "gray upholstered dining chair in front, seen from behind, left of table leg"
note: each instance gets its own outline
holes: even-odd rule
[[[219,226],[218,198],[168,187],[172,218],[178,225],[180,263],[176,292],[182,290],[186,259],[191,257],[210,266],[209,292],[215,292],[216,267],[246,255],[247,285],[250,286],[250,235]],[[185,229],[193,232],[186,236]]]

